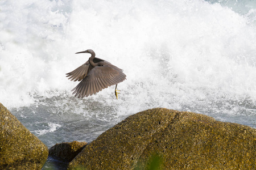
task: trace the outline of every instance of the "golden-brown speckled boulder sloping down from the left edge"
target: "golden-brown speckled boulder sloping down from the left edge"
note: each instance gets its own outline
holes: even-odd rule
[[[41,169],[48,148],[0,103],[0,169]]]

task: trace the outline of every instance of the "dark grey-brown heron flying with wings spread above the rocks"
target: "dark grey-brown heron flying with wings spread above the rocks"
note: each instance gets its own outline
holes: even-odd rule
[[[117,84],[126,80],[122,69],[104,59],[95,57],[93,50],[88,49],[79,53],[89,53],[92,56],[83,65],[67,73],[68,79],[81,81],[72,91],[76,97],[88,97],[104,88],[115,85],[115,96],[118,99]]]

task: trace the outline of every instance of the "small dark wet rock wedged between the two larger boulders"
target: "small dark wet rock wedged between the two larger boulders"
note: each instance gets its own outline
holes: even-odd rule
[[[86,142],[77,141],[57,143],[55,146],[49,148],[49,156],[63,162],[71,162],[86,145]]]

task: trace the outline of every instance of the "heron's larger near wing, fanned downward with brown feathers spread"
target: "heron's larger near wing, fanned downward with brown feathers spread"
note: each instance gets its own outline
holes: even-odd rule
[[[76,97],[84,97],[96,94],[104,88],[118,84],[126,79],[122,69],[115,67],[109,62],[106,65],[96,66],[72,91]]]

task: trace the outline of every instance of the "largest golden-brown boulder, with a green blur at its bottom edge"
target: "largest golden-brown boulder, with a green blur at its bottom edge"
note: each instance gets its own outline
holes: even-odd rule
[[[256,130],[164,108],[105,131],[68,169],[256,169]]]

